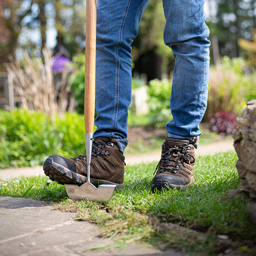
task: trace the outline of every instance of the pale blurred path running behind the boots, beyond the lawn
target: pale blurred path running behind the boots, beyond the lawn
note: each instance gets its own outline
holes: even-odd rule
[[[199,145],[196,154],[215,154],[218,152],[225,152],[234,150],[233,140]],[[125,163],[129,165],[139,164],[139,163],[148,163],[153,161],[159,161],[161,156],[161,151],[153,151],[145,154],[136,154],[125,156]],[[29,177],[32,175],[44,175],[43,166],[36,167],[25,167],[17,169],[0,169],[0,179],[9,179],[20,176]]]

